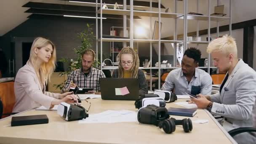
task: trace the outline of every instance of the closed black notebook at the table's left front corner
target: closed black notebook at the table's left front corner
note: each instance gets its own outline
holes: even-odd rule
[[[11,118],[11,126],[35,125],[48,122],[49,120],[47,115],[28,115]]]

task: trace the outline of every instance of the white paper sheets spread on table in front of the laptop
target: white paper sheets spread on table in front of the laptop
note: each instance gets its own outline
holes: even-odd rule
[[[136,122],[137,112],[131,110],[107,110],[79,120],[78,123],[121,123]]]

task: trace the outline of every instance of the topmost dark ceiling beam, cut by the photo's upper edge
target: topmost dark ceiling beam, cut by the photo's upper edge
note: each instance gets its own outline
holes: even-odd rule
[[[62,1],[69,1],[69,0],[62,0]],[[72,1],[87,2],[87,3],[95,3],[96,2],[96,0],[72,0]],[[106,3],[106,4],[115,4],[116,2],[118,5],[123,5],[123,0],[102,0],[102,3]],[[100,0],[98,0],[98,3],[100,3]],[[126,5],[130,5],[130,0],[126,0]],[[133,0],[133,6],[150,7],[150,2]],[[152,2],[152,7],[158,8],[158,3]],[[165,8],[165,7],[161,4],[161,8]]]

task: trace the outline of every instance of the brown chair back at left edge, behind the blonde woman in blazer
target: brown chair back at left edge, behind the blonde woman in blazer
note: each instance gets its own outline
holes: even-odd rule
[[[14,115],[14,82],[0,83],[0,118]]]

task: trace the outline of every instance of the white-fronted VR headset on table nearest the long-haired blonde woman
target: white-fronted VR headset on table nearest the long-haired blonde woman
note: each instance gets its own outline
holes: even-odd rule
[[[83,118],[88,117],[84,107],[74,104],[67,104],[66,102],[61,102],[58,105],[57,114],[67,121],[82,120]]]

